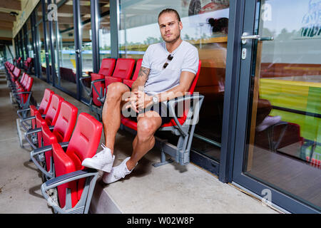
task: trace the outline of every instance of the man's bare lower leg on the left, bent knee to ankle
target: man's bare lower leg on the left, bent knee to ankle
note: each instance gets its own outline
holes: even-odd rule
[[[116,133],[121,126],[121,107],[125,103],[122,100],[124,93],[130,92],[129,88],[123,83],[111,83],[108,86],[106,100],[103,104],[103,133],[105,135],[105,145],[111,149],[115,144]]]

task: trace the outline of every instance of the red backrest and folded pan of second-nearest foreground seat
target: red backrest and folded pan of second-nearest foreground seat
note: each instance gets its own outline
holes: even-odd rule
[[[41,125],[44,146],[51,145],[54,142],[68,142],[76,124],[77,113],[78,108],[76,108],[76,106],[68,103],[66,100],[63,100],[56,124],[54,125],[54,130],[51,132],[46,123]],[[51,167],[51,157],[51,151],[45,152],[47,171],[49,171]]]

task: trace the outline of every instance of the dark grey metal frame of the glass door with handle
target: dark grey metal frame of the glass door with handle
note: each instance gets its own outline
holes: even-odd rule
[[[244,13],[243,13],[243,26],[240,26],[240,33],[248,32],[253,34],[255,32],[255,13],[258,10],[257,0],[247,0],[244,1]],[[238,99],[235,100],[234,118],[236,120],[235,139],[234,145],[234,162],[233,162],[233,177],[232,181],[246,190],[250,190],[258,197],[265,197],[263,190],[270,190],[272,196],[272,204],[275,204],[281,208],[286,209],[291,213],[320,213],[317,209],[304,204],[303,202],[286,195],[284,192],[277,190],[271,186],[265,185],[263,182],[255,180],[248,175],[243,173],[243,158],[246,150],[246,135],[248,127],[248,109],[250,108],[250,75],[253,70],[253,48],[255,47],[256,41],[248,40],[248,42],[242,46],[240,36],[238,41],[238,47],[236,48],[240,51],[241,48],[247,48],[247,57],[245,60],[240,59],[240,55],[237,56],[238,61],[240,61],[240,74],[239,74],[239,87],[238,87]],[[228,68],[228,67],[227,67]]]

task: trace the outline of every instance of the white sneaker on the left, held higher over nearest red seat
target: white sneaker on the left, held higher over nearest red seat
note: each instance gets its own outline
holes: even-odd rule
[[[83,160],[81,165],[96,170],[103,170],[103,172],[111,172],[115,155],[111,155],[111,149],[107,148],[105,145],[101,144],[101,147],[103,147],[101,152],[96,153],[92,158],[87,157]]]

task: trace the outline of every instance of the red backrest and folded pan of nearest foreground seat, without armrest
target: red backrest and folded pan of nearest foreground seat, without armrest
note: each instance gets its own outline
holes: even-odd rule
[[[81,162],[86,157],[93,157],[96,154],[102,129],[102,124],[88,113],[79,114],[66,153],[62,151],[61,147],[58,147],[58,144],[53,144],[56,177],[84,168]],[[84,183],[85,180],[81,179],[58,186],[58,199],[61,208],[65,206],[66,188],[71,189],[71,204],[74,207],[81,198]]]

